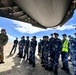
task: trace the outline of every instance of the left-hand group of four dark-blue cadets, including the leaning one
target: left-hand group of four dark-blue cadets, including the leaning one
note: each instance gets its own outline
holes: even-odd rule
[[[10,51],[10,55],[12,55],[12,52],[14,51],[13,54],[16,52],[18,44],[18,57],[23,58],[25,60],[29,60],[29,64],[32,64],[33,67],[35,67],[35,51],[36,51],[36,46],[37,46],[37,41],[36,41],[36,36],[33,36],[31,41],[29,40],[29,36],[21,37],[21,40],[18,42],[18,38],[14,40],[14,44],[12,47],[12,50]]]

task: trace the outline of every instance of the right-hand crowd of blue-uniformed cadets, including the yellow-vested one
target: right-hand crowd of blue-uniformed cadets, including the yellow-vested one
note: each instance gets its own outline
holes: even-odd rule
[[[40,39],[38,43],[38,55],[41,58],[42,67],[45,70],[53,71],[54,74],[58,75],[59,58],[61,55],[62,66],[61,69],[67,74],[70,74],[68,56],[71,55],[71,61],[74,65],[74,75],[76,75],[76,39],[73,41],[73,37],[63,34],[63,39],[58,38],[59,34],[51,34],[51,38],[43,36],[43,40]],[[73,43],[73,44],[71,44]],[[74,45],[74,46],[72,46]],[[74,50],[72,50],[74,49]]]

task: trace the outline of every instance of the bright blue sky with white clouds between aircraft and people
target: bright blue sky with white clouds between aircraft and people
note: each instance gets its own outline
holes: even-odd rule
[[[64,33],[74,37],[74,32],[76,32],[76,10],[74,11],[73,17],[67,23],[65,23],[62,27],[56,27],[55,29],[41,29],[33,27],[28,23],[0,17],[0,30],[2,28],[6,29],[9,42],[13,42],[16,37],[20,40],[21,36],[29,36],[30,39],[32,36],[37,36],[37,40],[39,41],[39,39],[41,39],[44,35],[50,37],[50,34],[54,32],[59,33],[59,38],[61,39],[62,34]]]

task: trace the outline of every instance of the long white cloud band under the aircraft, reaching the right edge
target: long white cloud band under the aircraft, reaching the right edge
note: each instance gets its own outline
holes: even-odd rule
[[[41,31],[47,31],[47,30],[70,30],[70,29],[75,29],[76,28],[76,24],[68,24],[68,25],[63,25],[62,27],[58,26],[58,27],[54,27],[54,28],[47,28],[47,29],[41,29],[38,27],[34,27],[29,23],[24,23],[24,22],[19,22],[19,21],[15,21],[13,20],[14,23],[14,29],[16,29],[17,31],[19,31],[20,33],[37,33],[37,32],[41,32]]]

